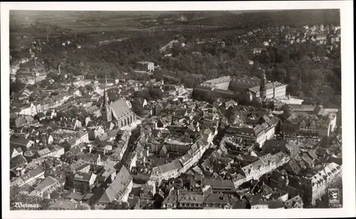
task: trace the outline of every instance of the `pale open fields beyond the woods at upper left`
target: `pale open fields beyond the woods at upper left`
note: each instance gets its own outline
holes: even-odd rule
[[[159,16],[179,18],[190,16],[217,16],[224,11],[10,11],[10,24],[31,24],[36,22],[51,23],[62,28],[71,28],[78,31],[92,31],[93,28],[138,28],[138,31],[147,31],[147,26],[140,21],[157,19]]]

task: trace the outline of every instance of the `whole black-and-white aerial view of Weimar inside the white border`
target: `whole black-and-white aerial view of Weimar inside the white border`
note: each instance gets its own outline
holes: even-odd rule
[[[11,210],[342,208],[339,9],[9,14]]]

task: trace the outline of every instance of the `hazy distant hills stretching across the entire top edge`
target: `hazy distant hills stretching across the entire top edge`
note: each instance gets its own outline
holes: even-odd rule
[[[340,25],[338,9],[281,10],[281,11],[10,11],[12,22],[48,22],[63,26],[75,21],[117,23],[137,18],[178,19],[184,16],[190,25],[203,26],[304,26],[333,23]],[[62,25],[60,25],[62,24]],[[135,26],[135,23],[126,23]],[[105,26],[105,25],[103,25]],[[140,25],[139,25],[140,26]]]

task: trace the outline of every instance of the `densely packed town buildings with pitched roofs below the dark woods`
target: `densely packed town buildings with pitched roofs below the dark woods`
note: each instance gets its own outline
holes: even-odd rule
[[[329,40],[320,34],[313,42]],[[341,110],[304,104],[263,70],[260,78],[225,76],[188,89],[81,75],[58,83],[37,67],[21,68],[26,62],[12,66],[11,77],[46,86],[11,94],[11,203],[45,210],[316,208],[328,188],[341,185]],[[155,67],[137,63],[146,73]],[[147,87],[163,95],[138,98],[138,115],[133,96]],[[211,93],[216,100],[202,100]]]

